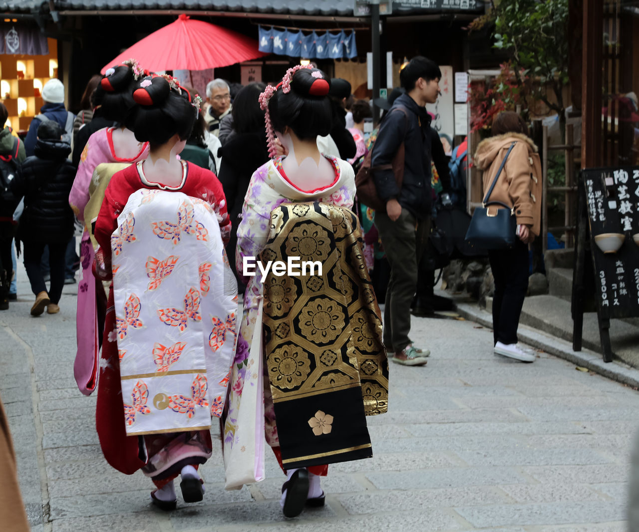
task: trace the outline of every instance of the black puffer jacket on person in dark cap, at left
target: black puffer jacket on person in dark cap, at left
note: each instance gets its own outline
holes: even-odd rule
[[[27,157],[11,182],[13,194],[24,196],[18,237],[22,241],[68,242],[73,236],[69,192],[75,166],[66,157],[71,146],[63,141],[38,139],[35,155]]]

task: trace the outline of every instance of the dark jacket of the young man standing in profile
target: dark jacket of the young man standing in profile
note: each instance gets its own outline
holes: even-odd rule
[[[403,107],[404,114],[397,107]],[[436,132],[431,128],[431,117],[424,107],[403,94],[395,100],[380,125],[371,156],[371,169],[377,194],[383,201],[397,199],[403,209],[413,216],[425,218],[431,212],[431,145]],[[404,180],[397,187],[392,169],[374,167],[390,165],[397,149],[404,142]],[[441,142],[440,142],[441,146]],[[443,148],[442,148],[443,154]],[[446,185],[446,188],[448,185]]]

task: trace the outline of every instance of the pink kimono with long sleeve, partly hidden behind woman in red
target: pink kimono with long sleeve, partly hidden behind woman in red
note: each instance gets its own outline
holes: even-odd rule
[[[84,222],[84,233],[80,245],[82,277],[78,285],[76,317],[78,349],[73,365],[75,381],[84,395],[90,395],[97,384],[98,351],[100,351],[98,331],[101,330],[98,319],[104,321],[106,307],[102,283],[93,277],[91,271],[95,244],[91,241],[91,220],[84,219],[84,208],[89,202],[89,186],[92,179],[99,179],[97,174],[94,175],[94,171],[100,163],[134,163],[145,159],[148,155],[148,142],[141,142],[139,153],[134,158],[118,157],[113,147],[113,131],[114,128],[104,128],[89,137],[82,151],[80,165],[69,194],[69,204],[73,212],[79,220]],[[104,190],[104,187],[100,187],[100,190]]]

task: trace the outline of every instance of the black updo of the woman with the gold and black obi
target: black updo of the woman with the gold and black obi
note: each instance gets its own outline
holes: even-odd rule
[[[332,110],[328,100],[330,81],[317,68],[302,68],[293,74],[291,90],[279,87],[268,100],[273,130],[283,132],[289,126],[300,140],[325,137],[332,128]]]

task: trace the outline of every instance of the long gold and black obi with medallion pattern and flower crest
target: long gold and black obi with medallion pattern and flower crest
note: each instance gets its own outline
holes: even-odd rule
[[[327,203],[271,213],[263,264],[319,261],[298,277],[264,282],[266,373],[287,469],[373,456],[366,416],[388,408],[381,314],[364,262],[358,219]]]

